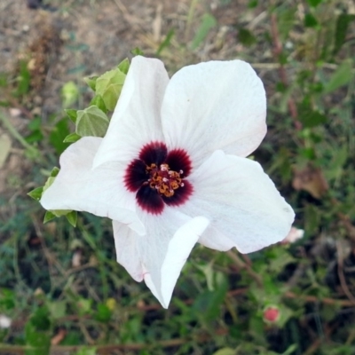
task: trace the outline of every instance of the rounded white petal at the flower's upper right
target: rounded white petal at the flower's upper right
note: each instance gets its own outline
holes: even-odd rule
[[[162,102],[168,147],[199,166],[217,149],[247,156],[264,138],[266,99],[254,69],[241,60],[209,61],[173,75]]]

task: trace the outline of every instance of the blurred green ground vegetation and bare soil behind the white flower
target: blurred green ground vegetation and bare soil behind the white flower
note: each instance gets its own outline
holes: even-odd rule
[[[355,353],[351,1],[0,7],[0,354]],[[304,230],[250,255],[196,246],[168,310],[115,262],[109,220],[52,218],[28,197],[75,140],[70,118],[94,98],[83,77],[140,51],[170,74],[251,63],[268,99],[254,159]]]

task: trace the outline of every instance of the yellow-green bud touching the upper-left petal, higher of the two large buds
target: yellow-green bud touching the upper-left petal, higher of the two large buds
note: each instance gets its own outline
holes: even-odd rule
[[[96,93],[102,97],[109,111],[113,111],[116,106],[125,78],[126,75],[117,67],[99,76],[96,81]]]

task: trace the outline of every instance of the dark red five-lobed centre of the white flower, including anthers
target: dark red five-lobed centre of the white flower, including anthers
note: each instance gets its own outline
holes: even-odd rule
[[[124,184],[136,193],[138,205],[148,213],[162,213],[164,205],[178,206],[193,193],[193,186],[185,179],[192,163],[184,149],[168,152],[161,142],[143,146],[127,167]]]

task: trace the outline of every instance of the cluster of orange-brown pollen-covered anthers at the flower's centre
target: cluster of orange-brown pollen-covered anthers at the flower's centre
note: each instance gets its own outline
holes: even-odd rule
[[[183,170],[179,170],[179,172],[170,170],[168,164],[161,164],[158,167],[153,163],[146,167],[146,172],[150,175],[147,184],[166,197],[173,196],[174,190],[184,186],[182,178],[180,177]]]

